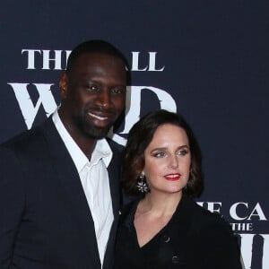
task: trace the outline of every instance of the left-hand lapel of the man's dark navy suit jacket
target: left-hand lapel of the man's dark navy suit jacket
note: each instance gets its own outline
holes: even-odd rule
[[[51,117],[44,126],[44,133],[48,140],[48,147],[51,148],[51,159],[59,187],[63,190],[63,198],[70,208],[70,214],[74,215],[74,222],[77,222],[77,230],[82,233],[82,245],[89,249],[89,259],[100,263],[94,222],[91,210],[84,194],[82,183],[79,178],[74,162],[66,150],[65,143],[56,131]]]

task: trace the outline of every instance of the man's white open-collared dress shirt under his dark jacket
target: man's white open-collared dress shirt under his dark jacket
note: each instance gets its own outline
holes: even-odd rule
[[[91,161],[89,161],[65,129],[57,111],[53,114],[52,119],[81,178],[82,187],[94,221],[102,265],[111,225],[114,221],[107,170],[112,159],[112,151],[107,140],[100,139],[97,141],[91,154]]]

